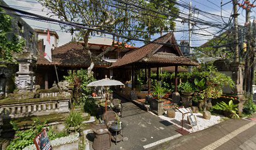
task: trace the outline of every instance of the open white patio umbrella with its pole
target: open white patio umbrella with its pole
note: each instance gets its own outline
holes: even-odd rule
[[[124,86],[123,83],[114,79],[101,79],[89,83],[87,86],[104,86],[105,87],[105,111],[107,111],[107,86]]]

